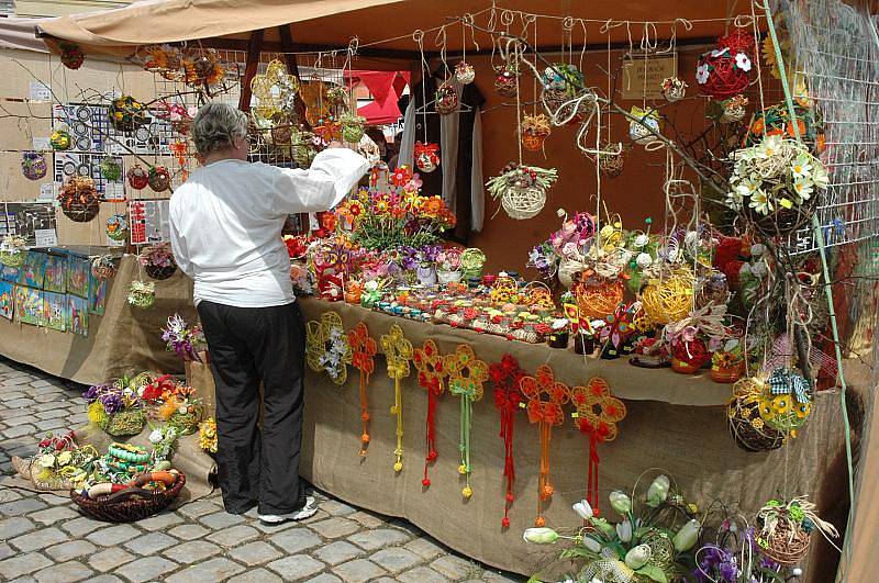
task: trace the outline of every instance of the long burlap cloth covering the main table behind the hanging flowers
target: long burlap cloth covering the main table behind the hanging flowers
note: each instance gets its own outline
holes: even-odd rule
[[[446,325],[431,325],[343,303],[301,300],[305,319],[319,319],[327,310],[338,312],[349,329],[364,321],[378,340],[398,324],[413,346],[432,338],[443,354],[469,343],[477,358],[493,362],[504,352],[519,359],[533,373],[548,363],[558,380],[571,386],[594,375],[603,377],[612,392],[625,400],[627,417],[619,424],[615,441],[599,445],[602,512],[610,512],[607,493],[631,489],[648,468],[661,468],[689,500],[706,507],[715,500],[738,504],[750,517],[768,498],[779,494],[806,494],[820,506],[824,518],[844,526],[845,497],[842,415],[838,394],[821,393],[815,412],[800,437],[790,446],[769,453],[748,453],[735,446],[726,428],[724,404],[730,385],[670,370],[645,370],[624,359],[607,361],[583,358],[572,350],[527,345],[501,337],[480,335]],[[203,365],[192,368],[191,381],[211,384]],[[425,457],[427,397],[418,385],[415,371],[403,381],[403,470],[393,471],[396,417],[393,383],[385,361],[376,359],[376,372],[368,385],[370,444],[366,457],[360,449],[360,403],[358,372],[351,369],[344,386],[333,384],[325,373],[308,372],[305,422],[301,472],[315,486],[346,502],[381,514],[404,517],[443,543],[487,564],[523,574],[534,574],[560,551],[556,547],[525,543],[522,531],[533,526],[537,503],[539,441],[537,426],[530,425],[522,411],[515,424],[515,496],[510,511],[511,527],[501,528],[505,482],[500,417],[493,404],[493,388],[486,384],[485,397],[475,404],[472,416],[470,483],[474,495],[461,496],[458,474],[458,399],[444,393],[436,413],[438,459],[430,470],[432,485],[422,486]],[[571,410],[568,408],[568,412]],[[583,497],[587,482],[588,438],[572,422],[553,430],[552,475],[556,489],[546,504],[547,526],[576,529],[580,526],[570,506]],[[786,478],[787,475],[787,478]],[[643,487],[646,489],[646,483]],[[826,549],[813,545],[812,557]],[[836,557],[812,560],[809,581],[830,581]],[[828,571],[827,571],[828,570]]]

